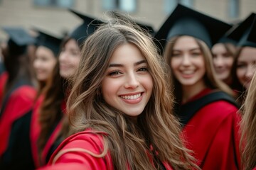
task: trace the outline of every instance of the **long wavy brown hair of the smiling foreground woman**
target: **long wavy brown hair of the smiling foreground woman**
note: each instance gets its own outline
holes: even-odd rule
[[[183,147],[179,136],[181,129],[172,113],[174,98],[169,81],[166,81],[166,64],[149,36],[137,26],[113,19],[87,38],[68,98],[70,122],[75,132],[91,128],[108,134],[103,136],[104,151],[99,157],[110,151],[114,169],[127,169],[127,166],[130,169],[159,169],[160,163],[153,166],[146,152],[152,158],[156,156],[159,161],[169,163],[174,169],[197,169],[193,164],[195,160]],[[154,81],[149,103],[138,116],[136,124],[108,105],[101,93],[102,79],[107,74],[110,58],[117,47],[126,43],[136,45],[142,52]],[[150,146],[157,155],[150,152]]]

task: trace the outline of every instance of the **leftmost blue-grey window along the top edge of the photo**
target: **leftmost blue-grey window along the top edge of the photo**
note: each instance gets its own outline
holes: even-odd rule
[[[55,6],[60,8],[71,8],[74,0],[33,0],[36,6]]]

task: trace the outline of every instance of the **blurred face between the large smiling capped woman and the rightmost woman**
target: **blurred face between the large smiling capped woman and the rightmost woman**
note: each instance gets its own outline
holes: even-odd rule
[[[228,52],[223,43],[213,45],[213,66],[218,79],[225,81],[230,77],[234,57]]]

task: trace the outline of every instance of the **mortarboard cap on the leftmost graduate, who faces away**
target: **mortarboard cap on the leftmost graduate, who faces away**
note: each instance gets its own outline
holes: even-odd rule
[[[4,27],[3,30],[9,35],[7,45],[10,55],[23,55],[26,53],[27,45],[35,42],[25,29],[20,27]]]

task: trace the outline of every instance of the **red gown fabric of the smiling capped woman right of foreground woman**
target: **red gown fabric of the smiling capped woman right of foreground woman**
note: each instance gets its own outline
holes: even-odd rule
[[[203,90],[193,100],[208,94]],[[186,147],[193,150],[201,169],[238,169],[240,167],[238,108],[227,101],[203,106],[184,126]]]

